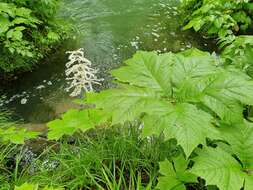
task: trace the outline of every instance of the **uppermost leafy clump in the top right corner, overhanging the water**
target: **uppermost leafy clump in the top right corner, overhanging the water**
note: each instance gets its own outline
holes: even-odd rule
[[[184,1],[184,5],[192,10],[185,30],[193,28],[225,38],[244,33],[252,25],[252,3],[249,0],[200,0],[198,4],[201,5],[196,7],[192,1]]]

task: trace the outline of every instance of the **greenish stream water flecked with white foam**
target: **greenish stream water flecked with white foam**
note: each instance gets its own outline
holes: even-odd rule
[[[212,50],[213,44],[199,35],[181,31],[178,4],[176,0],[65,0],[59,16],[75,21],[80,34],[33,72],[1,86],[0,107],[12,110],[14,119],[22,119],[28,127],[38,128],[76,107],[64,90],[67,50],[84,48],[86,57],[100,69],[100,77],[106,79],[102,88],[110,87],[108,71],[137,50]]]

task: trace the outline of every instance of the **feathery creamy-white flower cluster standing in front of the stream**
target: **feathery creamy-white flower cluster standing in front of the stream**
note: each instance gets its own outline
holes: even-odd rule
[[[75,97],[81,95],[82,91],[93,91],[92,85],[101,85],[104,79],[98,79],[96,74],[97,69],[91,68],[91,61],[84,57],[84,50],[78,49],[76,51],[68,51],[69,62],[66,63],[66,80],[70,81],[70,86],[66,88],[69,92],[73,90],[70,96]]]

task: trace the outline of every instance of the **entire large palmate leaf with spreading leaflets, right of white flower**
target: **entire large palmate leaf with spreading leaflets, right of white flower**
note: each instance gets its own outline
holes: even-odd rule
[[[116,89],[88,94],[112,123],[142,119],[143,135],[176,138],[187,157],[206,138],[220,139],[213,118],[241,123],[243,105],[253,104],[253,81],[218,66],[217,57],[191,49],[179,54],[138,52],[112,73]]]

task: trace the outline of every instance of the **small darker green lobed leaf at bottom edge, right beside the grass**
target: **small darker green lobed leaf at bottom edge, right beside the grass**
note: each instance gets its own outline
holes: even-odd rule
[[[180,156],[173,160],[160,163],[159,172],[163,175],[158,178],[157,188],[161,190],[186,190],[185,183],[197,182],[197,177],[187,171],[187,161]]]

